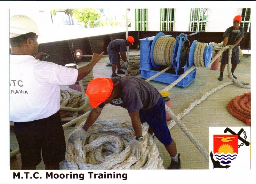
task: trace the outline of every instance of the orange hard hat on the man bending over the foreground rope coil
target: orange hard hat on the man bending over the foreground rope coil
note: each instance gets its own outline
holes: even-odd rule
[[[93,79],[86,88],[86,95],[93,108],[98,107],[108,99],[113,90],[113,82],[109,78],[98,77]]]

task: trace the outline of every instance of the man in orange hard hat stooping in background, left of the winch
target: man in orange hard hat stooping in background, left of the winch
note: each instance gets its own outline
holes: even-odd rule
[[[127,57],[126,57],[126,47],[133,45],[134,38],[132,36],[128,36],[126,40],[124,39],[116,39],[111,41],[108,44],[108,57],[109,61],[112,64],[112,75],[111,77],[118,77],[117,74],[124,74],[125,72],[121,70],[120,65],[120,55],[122,60],[124,61],[124,65],[127,67]],[[119,55],[120,52],[120,55]],[[117,74],[116,74],[117,67]]]

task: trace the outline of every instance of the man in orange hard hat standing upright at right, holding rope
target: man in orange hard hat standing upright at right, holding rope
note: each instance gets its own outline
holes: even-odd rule
[[[234,75],[234,71],[236,70],[236,66],[239,64],[239,45],[241,40],[244,38],[244,28],[240,27],[240,23],[242,21],[242,17],[240,15],[236,15],[233,19],[233,26],[228,27],[223,34],[223,47],[229,46],[228,50],[232,49],[231,56],[231,73],[235,79],[237,77]],[[219,81],[223,80],[223,72],[226,64],[228,64],[228,50],[222,53],[221,64],[220,64],[220,76],[218,78]]]

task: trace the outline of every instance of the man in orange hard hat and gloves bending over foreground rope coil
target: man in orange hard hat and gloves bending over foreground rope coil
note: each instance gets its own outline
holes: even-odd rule
[[[180,153],[177,153],[176,143],[167,126],[164,98],[155,87],[134,76],[96,78],[89,83],[86,94],[93,109],[84,126],[69,136],[69,142],[81,138],[84,144],[86,131],[100,116],[104,105],[110,103],[127,109],[131,117],[135,138],[128,144],[132,145],[132,154],[137,160],[143,154],[141,124],[147,122],[150,127],[149,133],[155,134],[171,156],[171,165],[168,169],[180,169]]]

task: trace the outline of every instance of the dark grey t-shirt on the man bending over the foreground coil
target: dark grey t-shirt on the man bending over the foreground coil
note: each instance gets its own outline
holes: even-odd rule
[[[113,99],[110,104],[121,106],[127,109],[128,112],[149,109],[155,106],[160,98],[160,93],[154,86],[138,77],[114,77],[111,80],[120,81],[119,91],[121,97]],[[99,107],[103,108],[104,104],[100,104]]]

